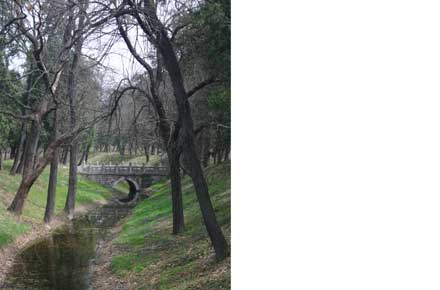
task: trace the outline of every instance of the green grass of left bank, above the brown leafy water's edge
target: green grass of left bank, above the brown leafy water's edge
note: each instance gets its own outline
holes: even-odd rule
[[[32,187],[23,209],[20,221],[6,211],[14,198],[20,184],[21,176],[9,175],[12,161],[5,161],[4,170],[0,171],[0,247],[14,242],[14,240],[28,232],[32,226],[43,224],[43,216],[47,198],[49,168],[43,172]],[[58,171],[57,195],[55,214],[61,214],[67,196],[68,168],[60,166]],[[105,187],[89,181],[82,176],[78,177],[78,191],[76,206],[105,201],[112,193]]]

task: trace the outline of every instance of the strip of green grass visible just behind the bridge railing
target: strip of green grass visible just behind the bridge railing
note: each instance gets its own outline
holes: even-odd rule
[[[93,164],[96,162],[104,163],[104,164],[146,164],[145,155],[120,155],[119,152],[98,152],[92,153],[92,157],[89,158],[89,163]],[[160,163],[159,155],[150,155],[150,161],[148,165],[156,166]]]

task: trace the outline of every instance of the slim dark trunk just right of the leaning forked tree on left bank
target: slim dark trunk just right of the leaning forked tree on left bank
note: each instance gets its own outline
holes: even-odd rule
[[[54,111],[53,115],[53,137],[52,141],[58,138],[58,120],[57,111]],[[44,222],[50,223],[52,221],[54,209],[55,209],[55,196],[57,189],[57,177],[58,177],[58,148],[54,150],[54,156],[50,162],[50,174],[49,174],[49,185],[47,189],[47,202],[46,210],[44,212]]]

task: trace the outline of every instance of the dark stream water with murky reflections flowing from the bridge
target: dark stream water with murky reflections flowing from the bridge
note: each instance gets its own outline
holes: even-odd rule
[[[99,241],[128,212],[117,205],[99,208],[29,246],[15,259],[1,289],[92,290]]]

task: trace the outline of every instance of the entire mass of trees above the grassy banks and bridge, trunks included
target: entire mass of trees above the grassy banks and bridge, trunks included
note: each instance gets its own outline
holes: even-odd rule
[[[230,158],[230,2],[30,0],[0,3],[0,169],[21,175],[8,207],[22,213],[50,168],[69,167],[64,211],[75,209],[78,166],[91,153],[162,154],[169,164],[172,232],[184,231],[182,173],[193,182],[219,260],[229,246],[203,167]],[[116,45],[122,49],[114,49]],[[122,44],[122,46],[121,46]],[[116,72],[111,55],[129,55]]]

